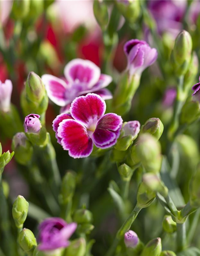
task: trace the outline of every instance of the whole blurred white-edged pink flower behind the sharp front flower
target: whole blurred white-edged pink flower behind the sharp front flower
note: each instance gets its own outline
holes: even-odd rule
[[[61,113],[69,112],[72,101],[88,92],[100,95],[104,100],[112,98],[112,94],[104,87],[112,82],[112,77],[101,74],[100,68],[90,60],[74,59],[64,68],[65,78],[43,75],[48,97],[56,105],[61,106]]]

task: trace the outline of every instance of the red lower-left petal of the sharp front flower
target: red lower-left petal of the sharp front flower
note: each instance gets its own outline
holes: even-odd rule
[[[76,120],[63,120],[58,127],[58,137],[64,150],[69,150],[73,158],[83,158],[91,154],[93,144],[86,128]]]

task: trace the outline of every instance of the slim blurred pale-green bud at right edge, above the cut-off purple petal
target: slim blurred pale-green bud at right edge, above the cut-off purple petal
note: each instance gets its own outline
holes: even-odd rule
[[[198,73],[198,66],[198,56],[196,52],[193,52],[188,71],[184,76],[184,90],[186,92],[188,92],[188,90],[190,90],[191,86],[194,84],[194,79]]]

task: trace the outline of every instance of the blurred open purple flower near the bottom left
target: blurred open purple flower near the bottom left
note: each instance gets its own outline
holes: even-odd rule
[[[50,251],[67,247],[68,239],[75,232],[77,224],[68,224],[61,218],[47,218],[39,225],[38,250]]]

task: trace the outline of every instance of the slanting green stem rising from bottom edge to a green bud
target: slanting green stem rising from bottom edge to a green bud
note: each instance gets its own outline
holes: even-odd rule
[[[138,213],[142,210],[142,208],[138,207],[136,204],[135,208],[131,212],[130,216],[125,220],[124,224],[122,224],[121,228],[118,230],[116,237],[110,246],[110,249],[106,253],[106,256],[112,256],[116,250],[116,247],[118,246],[118,243],[122,238],[124,238],[124,234],[130,229],[132,223],[138,216]]]

